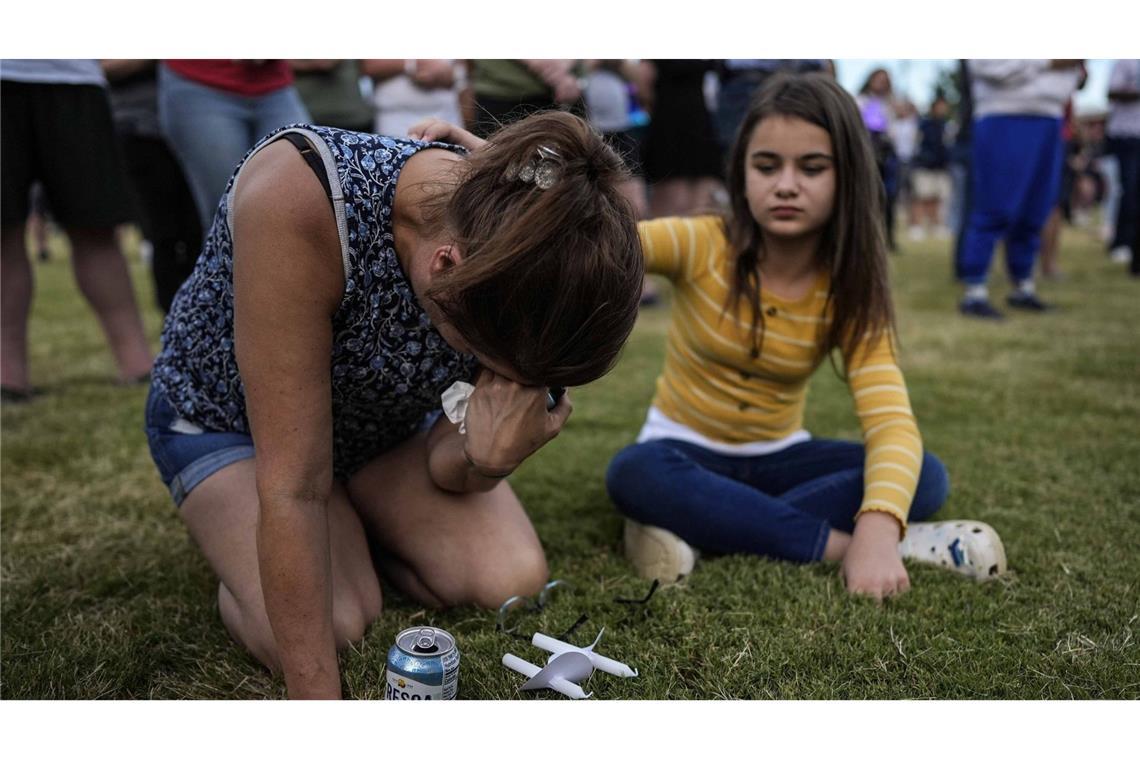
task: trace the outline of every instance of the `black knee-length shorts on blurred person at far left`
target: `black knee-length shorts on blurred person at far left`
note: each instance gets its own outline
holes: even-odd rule
[[[28,191],[43,186],[64,227],[107,228],[133,216],[107,92],[97,84],[0,85],[0,221],[27,219]]]

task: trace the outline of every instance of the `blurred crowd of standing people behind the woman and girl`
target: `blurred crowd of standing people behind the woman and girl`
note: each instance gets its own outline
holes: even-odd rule
[[[534,111],[567,109],[587,117],[625,156],[633,170],[625,193],[640,219],[693,214],[723,207],[726,147],[752,95],[777,71],[836,73],[826,59],[3,60],[5,398],[31,392],[25,343],[33,278],[25,239],[47,260],[48,226],[67,235],[80,288],[121,379],[145,379],[149,350],[115,230],[140,229],[158,305],[169,309],[235,165],[282,125],[404,136],[434,116],[486,136]],[[1061,275],[1064,223],[1096,226],[1106,254],[1140,275],[1133,255],[1140,64],[1116,62],[1108,113],[1077,117],[1072,95],[1085,79],[1080,60],[1040,71],[963,60],[922,109],[895,91],[886,68],[853,93],[877,154],[889,246],[899,250],[903,235],[954,239],[964,314],[1000,318],[984,288],[999,239],[1011,278],[1029,299],[1011,305],[1047,308],[1025,267],[1040,261],[1041,275]],[[1052,101],[1034,100],[1041,88],[1060,98],[1059,171],[1024,163],[1016,193],[1005,179],[979,180],[979,165],[994,174],[999,163],[979,164],[979,145],[1012,160],[1003,140],[1025,146],[1029,139],[1016,119],[1053,119]],[[1013,131],[997,134],[1007,126]],[[1051,132],[1032,140],[1039,138],[1039,156],[1050,153]],[[1019,170],[1004,166],[1001,178],[1011,172]],[[1042,180],[1049,172],[1057,173],[1056,188],[1051,174]],[[979,181],[986,182],[982,194],[974,191]],[[1003,198],[1024,190],[1024,207],[987,206],[999,203],[991,197],[999,185]],[[650,287],[645,301],[654,297]]]

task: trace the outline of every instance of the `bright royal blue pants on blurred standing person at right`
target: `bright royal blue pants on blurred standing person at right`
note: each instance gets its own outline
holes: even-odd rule
[[[986,281],[997,240],[1015,283],[1033,276],[1041,228],[1060,190],[1061,121],[1048,116],[984,116],[974,123],[970,216],[959,272]]]

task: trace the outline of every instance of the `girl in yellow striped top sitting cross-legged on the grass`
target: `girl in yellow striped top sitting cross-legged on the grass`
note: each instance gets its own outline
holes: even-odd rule
[[[731,153],[725,218],[641,223],[674,288],[665,370],[606,488],[646,578],[698,551],[833,561],[853,593],[909,587],[903,557],[974,578],[1005,569],[988,525],[917,523],[946,499],[898,368],[874,154],[854,99],[822,74],[769,80]],[[863,442],[803,430],[833,352]]]

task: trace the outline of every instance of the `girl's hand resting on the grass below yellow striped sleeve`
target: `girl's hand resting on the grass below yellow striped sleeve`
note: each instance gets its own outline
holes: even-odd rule
[[[839,572],[852,594],[882,599],[906,591],[911,581],[898,556],[895,518],[881,512],[860,516]]]

